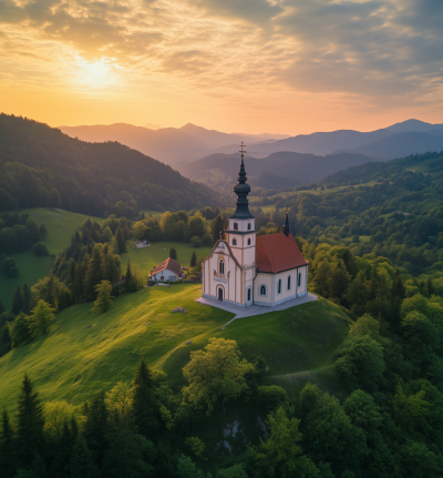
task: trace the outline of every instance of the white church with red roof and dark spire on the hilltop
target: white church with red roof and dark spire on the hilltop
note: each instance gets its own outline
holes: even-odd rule
[[[243,148],[241,148],[243,150]],[[256,235],[249,212],[244,153],[238,173],[236,211],[228,231],[202,264],[202,297],[239,307],[272,307],[308,293],[308,262],[289,233],[286,214],[284,232]]]

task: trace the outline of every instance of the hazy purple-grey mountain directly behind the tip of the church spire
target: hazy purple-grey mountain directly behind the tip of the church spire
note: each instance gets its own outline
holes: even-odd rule
[[[339,153],[326,156],[278,152],[266,157],[245,156],[249,183],[257,187],[292,187],[319,181],[350,166],[377,161],[363,154]],[[239,167],[239,155],[216,153],[183,165],[183,175],[220,190],[229,190]],[[267,180],[268,177],[268,180]],[[279,182],[280,181],[280,182]]]

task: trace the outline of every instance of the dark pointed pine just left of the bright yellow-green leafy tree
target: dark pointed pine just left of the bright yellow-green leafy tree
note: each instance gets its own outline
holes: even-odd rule
[[[133,411],[138,433],[146,438],[152,437],[158,430],[153,387],[154,379],[152,372],[142,358],[133,383]]]

